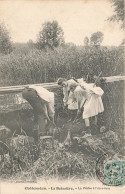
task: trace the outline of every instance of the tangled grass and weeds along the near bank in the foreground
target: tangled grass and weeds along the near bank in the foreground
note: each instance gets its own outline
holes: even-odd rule
[[[77,153],[57,140],[44,139],[38,144],[23,144],[24,136],[18,136],[13,144],[13,155],[0,162],[0,176],[13,181],[37,181],[38,179],[87,180],[96,177],[96,159],[104,153],[121,155],[117,134],[108,131],[101,136],[81,139]],[[17,138],[16,138],[17,139]],[[13,142],[16,140],[12,138]],[[110,140],[111,141],[106,141]],[[12,141],[11,141],[12,142]],[[116,148],[112,145],[116,144]],[[15,147],[16,145],[16,147]],[[75,150],[73,147],[72,149]],[[93,162],[94,161],[94,162]]]

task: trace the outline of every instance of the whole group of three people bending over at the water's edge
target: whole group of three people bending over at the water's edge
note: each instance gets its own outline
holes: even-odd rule
[[[86,133],[91,134],[90,118],[94,117],[97,125],[97,115],[104,111],[101,99],[103,90],[95,83],[87,83],[83,79],[59,78],[57,84],[63,88],[63,103],[68,108],[70,121],[76,122],[82,115]],[[34,122],[39,133],[46,135],[47,126],[55,126],[54,93],[42,86],[32,85],[25,87],[22,94],[33,108]]]

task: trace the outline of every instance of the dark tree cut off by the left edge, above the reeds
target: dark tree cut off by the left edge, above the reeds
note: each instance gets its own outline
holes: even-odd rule
[[[9,32],[4,24],[0,24],[0,53],[8,54],[12,51]]]

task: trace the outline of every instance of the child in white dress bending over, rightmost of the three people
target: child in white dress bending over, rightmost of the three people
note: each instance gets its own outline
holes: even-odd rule
[[[78,103],[77,115],[81,112],[82,107],[84,107],[82,117],[85,120],[88,132],[90,132],[89,118],[95,116],[96,124],[96,116],[104,111],[101,99],[104,92],[100,87],[94,87],[94,84],[88,84],[84,81],[80,85],[78,83],[71,83],[69,87]]]

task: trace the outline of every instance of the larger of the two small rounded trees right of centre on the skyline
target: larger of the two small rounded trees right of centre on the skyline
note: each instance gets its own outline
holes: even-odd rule
[[[95,32],[91,35],[90,37],[90,44],[91,45],[96,45],[96,46],[100,46],[100,44],[103,41],[103,33],[102,32]]]

